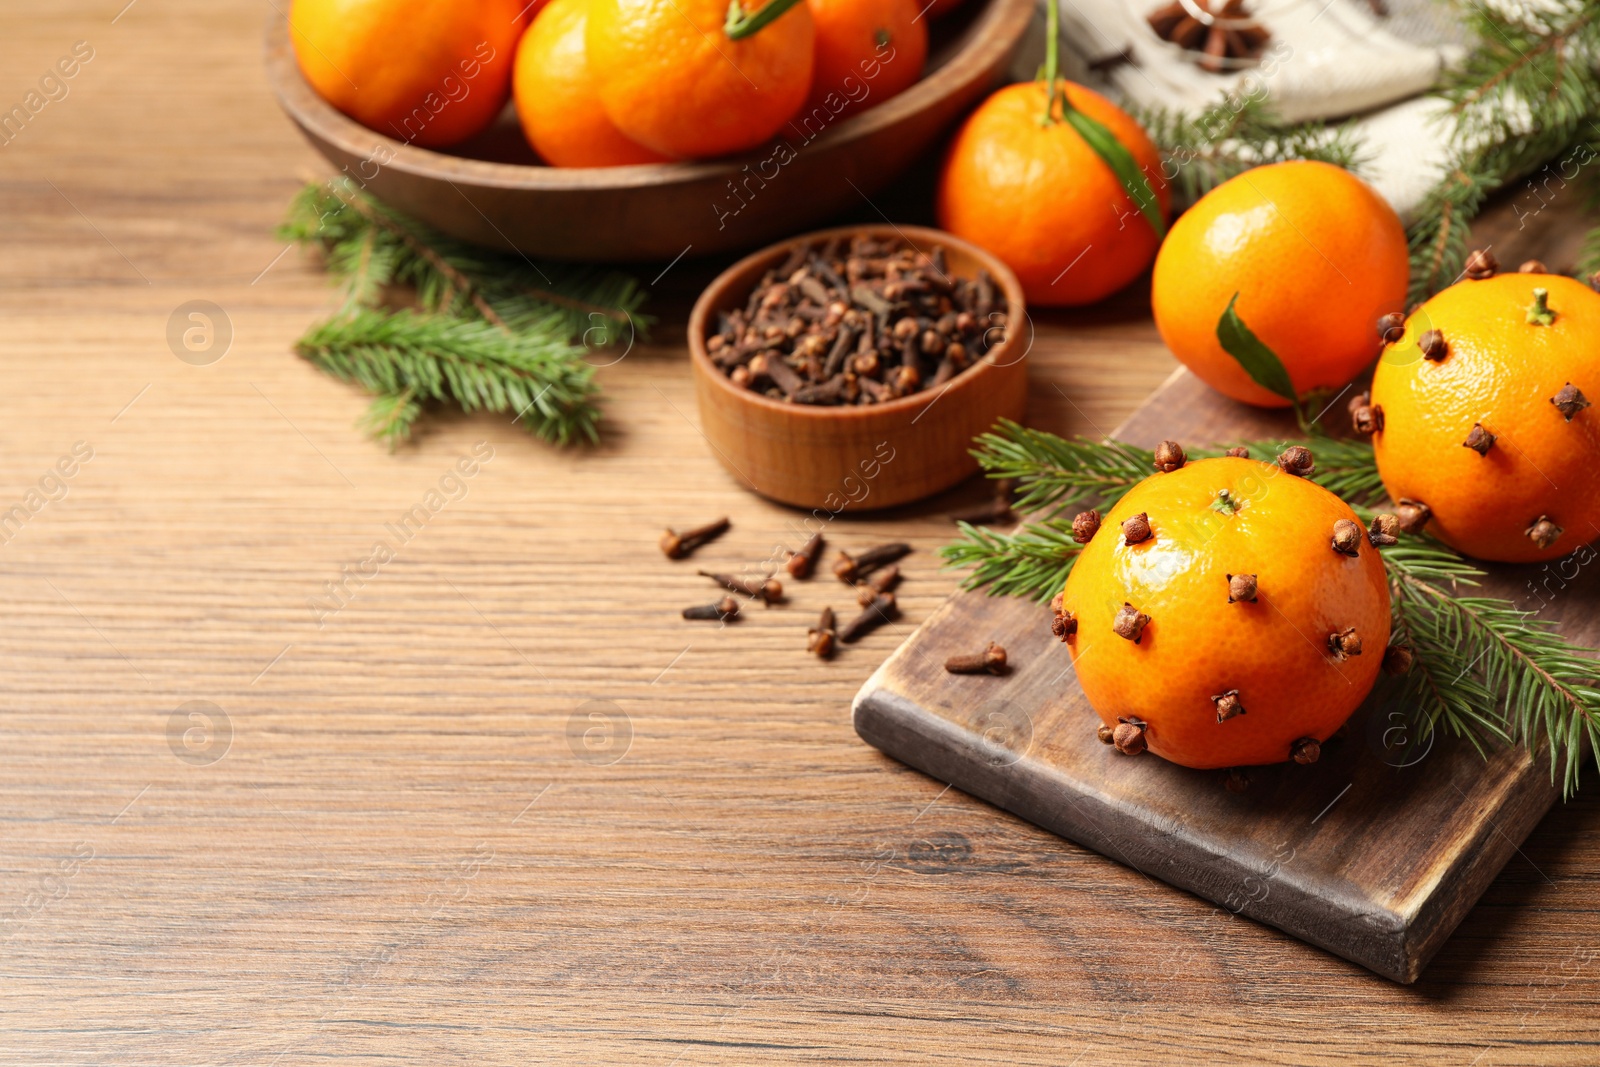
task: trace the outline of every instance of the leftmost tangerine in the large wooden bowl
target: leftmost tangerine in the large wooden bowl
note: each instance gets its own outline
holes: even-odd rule
[[[325,101],[389,136],[442,147],[482,131],[510,91],[520,0],[294,0],[290,40]]]

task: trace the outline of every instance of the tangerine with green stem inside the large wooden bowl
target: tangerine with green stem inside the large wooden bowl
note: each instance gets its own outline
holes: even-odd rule
[[[800,110],[811,88],[810,8],[795,3],[738,40],[726,19],[723,0],[592,2],[589,70],[624,136],[674,158],[725,155],[766,141]]]

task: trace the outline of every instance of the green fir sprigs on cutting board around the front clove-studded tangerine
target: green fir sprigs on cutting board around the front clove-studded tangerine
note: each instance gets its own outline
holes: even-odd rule
[[[1270,458],[1291,443],[1315,451],[1315,482],[1371,517],[1384,491],[1368,443],[1314,434],[1245,446]],[[976,445],[973,454],[989,477],[1018,480],[1016,507],[1034,518],[1014,533],[960,523],[960,539],[942,549],[946,565],[971,571],[965,589],[1040,603],[1061,592],[1078,558],[1067,512],[1109,509],[1154,470],[1147,450],[1066,440],[1014,422],[998,424]],[[1408,717],[1408,733],[1442,731],[1480,752],[1507,741],[1547,750],[1552,781],[1571,795],[1584,745],[1600,758],[1600,662],[1592,649],[1571,645],[1552,622],[1507,600],[1462,593],[1483,571],[1432,537],[1406,537],[1382,557],[1392,589],[1390,641],[1414,654],[1413,669],[1387,683]]]

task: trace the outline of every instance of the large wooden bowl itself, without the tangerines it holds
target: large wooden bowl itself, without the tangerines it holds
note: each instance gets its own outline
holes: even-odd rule
[[[405,144],[312,91],[280,16],[267,24],[267,78],[334,166],[451,237],[552,259],[674,259],[754,248],[859,206],[926,150],[998,80],[1034,0],[965,6],[936,24],[923,78],[899,96],[837,122],[797,117],[778,141],[709,162],[542,166],[509,107],[448,154]]]

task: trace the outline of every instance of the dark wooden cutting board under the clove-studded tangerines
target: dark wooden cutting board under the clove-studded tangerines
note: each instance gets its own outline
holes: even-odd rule
[[[1114,435],[1149,448],[1288,434],[1288,418],[1179,371]],[[1506,568],[1485,589],[1534,608],[1546,603],[1534,582],[1549,590],[1541,617],[1600,641],[1587,573]],[[1011,673],[944,672],[947,656],[989,640]],[[1122,757],[1096,741],[1098,721],[1050,611],[982,592],[950,597],[854,702],[856,733],[885,753],[1398,982],[1421,974],[1557,798],[1547,766],[1520,749],[1485,761],[1443,737],[1408,747],[1394,707],[1358,710],[1312,766],[1251,768],[1243,793],[1218,771]]]

